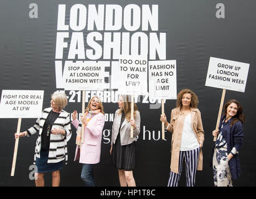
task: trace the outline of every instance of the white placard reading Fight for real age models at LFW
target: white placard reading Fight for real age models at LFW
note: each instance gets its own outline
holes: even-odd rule
[[[0,118],[39,118],[44,91],[2,90]]]

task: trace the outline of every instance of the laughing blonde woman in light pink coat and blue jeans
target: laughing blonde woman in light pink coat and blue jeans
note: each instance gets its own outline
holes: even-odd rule
[[[81,116],[81,122],[77,119],[77,111],[73,111],[72,124],[77,129],[77,149],[75,160],[83,164],[81,178],[87,187],[94,187],[93,164],[100,162],[100,150],[102,144],[102,130],[105,123],[103,104],[98,96],[90,99],[85,114]],[[82,124],[85,130],[82,135]],[[83,141],[81,137],[84,137]],[[83,143],[82,143],[83,142]]]

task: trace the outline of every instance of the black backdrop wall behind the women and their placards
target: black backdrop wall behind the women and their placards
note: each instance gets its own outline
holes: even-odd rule
[[[31,18],[29,8],[32,3],[38,6],[38,17]],[[256,160],[254,113],[255,109],[255,44],[256,44],[256,2],[222,1],[225,18],[218,19],[216,8],[219,1],[98,1],[98,4],[128,4],[142,6],[158,4],[158,32],[166,33],[166,60],[177,60],[177,90],[190,88],[199,97],[199,109],[205,131],[203,147],[204,170],[197,172],[196,186],[213,186],[212,170],[209,167],[211,149],[214,144],[211,135],[216,126],[217,113],[222,90],[205,86],[209,57],[225,58],[237,62],[250,63],[245,93],[228,91],[225,99],[238,99],[244,108],[244,144],[240,149],[242,174],[234,181],[235,186],[256,185]],[[56,90],[55,47],[57,34],[58,5],[65,4],[66,22],[69,21],[70,7],[74,4],[95,4],[95,1],[7,1],[0,2],[0,90],[44,90],[43,108],[50,106],[50,94]],[[35,13],[34,13],[35,14]],[[32,14],[33,15],[33,14]],[[89,30],[82,30],[85,34]],[[128,32],[127,30],[120,30]],[[138,30],[139,31],[139,30]],[[72,32],[70,30],[70,32]],[[148,34],[147,31],[145,31]],[[70,33],[71,34],[71,33]],[[103,45],[102,42],[99,44]],[[67,51],[64,50],[64,54]],[[65,56],[64,56],[65,57]],[[156,57],[158,59],[158,57]],[[110,70],[111,73],[111,70]],[[76,91],[77,92],[77,91]],[[80,110],[79,93],[65,91],[69,96],[66,111]],[[90,92],[89,92],[90,93]],[[75,97],[72,99],[72,95]],[[71,100],[72,99],[72,100]],[[144,99],[144,102],[143,102]],[[115,101],[111,98],[111,101]],[[152,109],[145,103],[147,96],[141,96],[138,108],[141,112],[141,132],[136,142],[137,165],[134,171],[138,186],[166,186],[169,176],[171,134],[166,132],[166,141],[161,139],[161,108]],[[73,102],[72,102],[73,101]],[[167,100],[166,116],[170,117],[175,100]],[[112,119],[116,103],[103,103],[106,114],[105,131],[102,139],[102,155],[95,165],[97,186],[119,186],[118,174],[110,162],[110,139]],[[156,105],[157,106],[157,105]],[[22,119],[21,131],[34,124],[36,119]],[[10,177],[14,152],[14,132],[17,119],[0,119],[0,185],[34,186],[29,179],[29,166],[33,162],[37,136],[22,138],[19,141],[16,172]],[[61,186],[83,186],[80,179],[82,166],[73,162],[75,153],[75,129],[68,142],[69,164],[61,170]],[[50,175],[45,175],[45,185],[50,186]],[[179,185],[185,185],[185,174]]]

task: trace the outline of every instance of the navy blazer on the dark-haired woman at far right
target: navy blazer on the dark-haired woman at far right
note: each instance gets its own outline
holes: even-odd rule
[[[222,116],[220,121],[223,121],[225,118],[225,115]],[[232,118],[233,119],[233,118]],[[235,123],[232,127],[230,127],[230,122],[232,119],[229,119],[227,121],[227,124],[223,126],[222,131],[226,134],[226,141],[227,141],[227,154],[230,153],[233,147],[239,151],[240,147],[242,146],[243,140],[244,140],[244,129],[241,121],[238,121]],[[219,129],[221,126],[221,122],[219,124]],[[212,157],[214,154],[214,148],[212,150],[212,155],[211,155],[211,167],[212,167]],[[240,177],[240,160],[239,160],[239,154],[234,155],[231,160],[229,160],[229,169],[232,178],[236,179]]]

